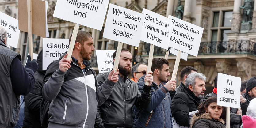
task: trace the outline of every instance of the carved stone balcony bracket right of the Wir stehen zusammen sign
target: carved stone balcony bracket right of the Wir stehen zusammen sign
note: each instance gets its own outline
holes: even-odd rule
[[[248,80],[251,78],[251,67],[252,64],[254,63],[253,60],[249,59],[249,58],[237,58],[237,68],[238,71],[242,74],[242,81],[243,80]]]

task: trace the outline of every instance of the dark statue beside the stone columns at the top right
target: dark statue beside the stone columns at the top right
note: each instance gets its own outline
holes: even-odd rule
[[[243,9],[243,23],[250,22],[252,20],[254,1],[253,0],[245,0],[243,5],[239,7]]]

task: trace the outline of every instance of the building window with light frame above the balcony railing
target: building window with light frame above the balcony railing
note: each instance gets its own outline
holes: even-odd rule
[[[213,12],[211,41],[227,41],[227,33],[231,31],[232,11]]]

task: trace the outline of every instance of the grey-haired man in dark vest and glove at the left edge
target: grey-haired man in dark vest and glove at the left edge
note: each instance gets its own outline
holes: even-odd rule
[[[28,55],[26,67],[21,55],[7,46],[7,31],[0,26],[0,127],[14,127],[19,119],[20,95],[26,95],[35,84],[36,60]]]

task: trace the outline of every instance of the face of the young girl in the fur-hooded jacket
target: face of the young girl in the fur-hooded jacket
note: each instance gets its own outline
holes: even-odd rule
[[[205,109],[206,109],[206,107],[205,107]],[[212,102],[207,107],[206,112],[209,112],[211,114],[212,118],[219,119],[221,112],[222,112],[222,106],[217,105],[217,102]]]

